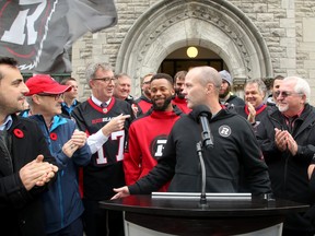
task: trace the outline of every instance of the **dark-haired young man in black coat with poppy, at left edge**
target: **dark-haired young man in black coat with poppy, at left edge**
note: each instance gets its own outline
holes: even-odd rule
[[[18,62],[0,57],[0,227],[10,235],[45,235],[39,194],[58,167],[34,120],[18,117],[28,93]]]

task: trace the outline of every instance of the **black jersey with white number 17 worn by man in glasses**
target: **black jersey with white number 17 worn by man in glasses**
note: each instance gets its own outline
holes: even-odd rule
[[[83,197],[90,200],[104,200],[114,194],[113,188],[125,186],[122,169],[124,149],[127,143],[129,126],[133,119],[130,104],[112,97],[106,108],[93,103],[91,98],[74,108],[72,117],[80,130],[96,133],[103,126],[118,115],[131,115],[126,119],[124,130],[113,132],[91,162],[83,167]]]

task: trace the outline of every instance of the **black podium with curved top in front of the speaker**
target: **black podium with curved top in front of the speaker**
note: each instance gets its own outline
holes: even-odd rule
[[[276,228],[272,229],[272,234],[268,233],[269,235],[281,235],[284,215],[304,212],[310,205],[281,199],[266,200],[252,197],[208,198],[207,205],[200,205],[200,201],[195,198],[129,196],[118,200],[101,201],[100,206],[124,211],[125,220],[139,226],[138,233],[132,235],[165,233],[223,236],[248,233],[266,235],[267,233],[255,234],[255,232],[272,227]],[[150,234],[141,233],[141,228],[150,229]],[[127,235],[131,235],[129,229]]]

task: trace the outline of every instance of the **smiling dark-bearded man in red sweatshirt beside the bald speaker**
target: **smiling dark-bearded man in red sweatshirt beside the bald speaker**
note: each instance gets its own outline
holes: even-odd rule
[[[171,103],[174,94],[171,75],[158,73],[152,76],[152,109],[135,120],[129,128],[129,146],[124,156],[127,185],[132,185],[145,176],[162,156],[168,133],[182,114],[182,110]],[[161,190],[166,191],[166,188],[167,185]]]

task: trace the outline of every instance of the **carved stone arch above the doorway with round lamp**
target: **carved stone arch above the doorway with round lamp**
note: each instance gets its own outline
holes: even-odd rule
[[[116,71],[133,80],[155,72],[172,51],[201,46],[226,63],[234,84],[272,76],[267,45],[254,23],[225,0],[161,1],[144,12],[127,33],[117,55]]]

